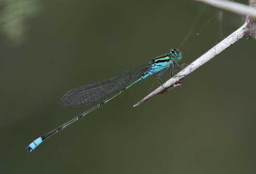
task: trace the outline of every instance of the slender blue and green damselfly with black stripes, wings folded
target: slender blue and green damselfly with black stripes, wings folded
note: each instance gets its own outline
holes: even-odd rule
[[[159,78],[166,70],[169,70],[169,73],[171,73],[171,76],[173,77],[174,64],[177,65],[179,70],[181,69],[178,64],[178,61],[181,58],[182,53],[176,48],[172,48],[169,54],[154,58],[150,60],[148,64],[129,70],[122,75],[67,91],[61,100],[61,106],[64,108],[80,108],[95,102],[99,103],[56,129],[40,136],[26,148],[26,151],[32,152],[32,150],[53,134],[63,130],[68,125],[102,106],[104,103],[124,92],[128,87],[148,76],[154,74],[156,78]]]

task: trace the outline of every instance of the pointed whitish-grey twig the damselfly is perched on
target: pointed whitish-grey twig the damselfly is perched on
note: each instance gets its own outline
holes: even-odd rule
[[[201,0],[203,1],[203,0]],[[214,0],[208,0],[208,1],[214,1]],[[215,0],[220,1],[220,0]],[[223,0],[226,1],[226,0]],[[255,7],[256,0],[250,0],[250,5],[252,7]],[[247,16],[245,23],[236,31],[234,31],[232,34],[230,34],[228,37],[226,37],[224,40],[222,40],[220,43],[212,47],[210,50],[208,50],[204,55],[197,58],[195,61],[193,61],[190,65],[188,65],[186,68],[181,70],[179,73],[177,73],[173,78],[170,78],[168,81],[166,81],[162,86],[155,89],[153,92],[151,92],[149,95],[147,95],[144,99],[142,99],[140,102],[133,105],[133,107],[136,107],[147,100],[153,98],[154,96],[165,92],[171,87],[176,86],[177,84],[180,85],[181,80],[187,76],[188,74],[192,73],[194,70],[208,62],[210,59],[214,58],[216,55],[224,51],[227,47],[232,45],[233,43],[237,42],[241,38],[243,38],[245,35],[249,36],[256,36],[256,19],[253,17]]]

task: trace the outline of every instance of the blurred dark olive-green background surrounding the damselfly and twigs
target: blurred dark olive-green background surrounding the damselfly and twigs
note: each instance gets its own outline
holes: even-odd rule
[[[1,0],[0,9],[2,174],[255,174],[256,42],[246,38],[182,87],[133,108],[159,86],[149,78],[25,152],[90,108],[61,108],[68,89],[172,47],[189,64],[243,17],[193,0]]]

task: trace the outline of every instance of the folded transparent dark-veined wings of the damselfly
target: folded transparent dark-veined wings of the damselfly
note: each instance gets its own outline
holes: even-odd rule
[[[127,87],[146,71],[147,65],[143,65],[108,80],[71,89],[64,94],[60,104],[64,108],[80,108],[95,102],[104,101]]]

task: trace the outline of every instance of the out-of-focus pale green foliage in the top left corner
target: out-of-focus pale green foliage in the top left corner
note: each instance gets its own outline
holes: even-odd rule
[[[26,20],[39,11],[38,0],[0,0],[1,31],[13,45],[24,41]]]

